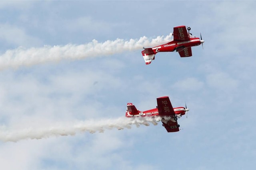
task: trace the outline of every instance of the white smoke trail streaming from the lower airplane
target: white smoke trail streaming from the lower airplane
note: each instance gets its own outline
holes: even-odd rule
[[[136,117],[136,118],[127,118],[121,117],[118,119],[103,119],[100,121],[81,121],[74,123],[73,125],[55,125],[47,128],[26,128],[22,130],[12,130],[6,131],[4,129],[0,130],[0,141],[3,142],[17,142],[22,139],[42,139],[48,138],[51,136],[67,136],[75,135],[78,132],[104,132],[105,129],[116,128],[118,130],[128,128],[130,129],[132,125],[139,127],[140,125],[149,126],[150,123],[157,125],[158,121],[161,121],[162,117]],[[170,119],[165,117],[165,120]]]

